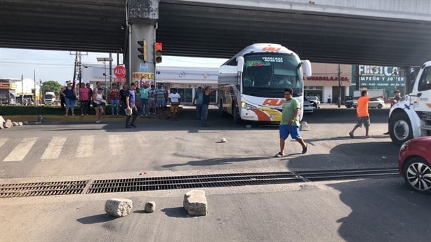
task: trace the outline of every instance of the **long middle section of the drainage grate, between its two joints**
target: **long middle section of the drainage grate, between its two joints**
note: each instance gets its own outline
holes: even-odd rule
[[[119,180],[94,180],[87,193],[152,191],[199,187],[235,187],[259,184],[304,182],[290,172],[280,173],[232,173],[213,175],[189,175],[177,177],[142,177]]]

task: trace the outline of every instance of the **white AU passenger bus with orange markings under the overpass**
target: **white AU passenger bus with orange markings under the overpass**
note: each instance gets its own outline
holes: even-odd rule
[[[231,114],[234,122],[281,121],[284,88],[293,88],[303,117],[304,79],[311,76],[309,60],[300,60],[288,48],[274,43],[255,43],[227,60],[218,73],[221,114]]]

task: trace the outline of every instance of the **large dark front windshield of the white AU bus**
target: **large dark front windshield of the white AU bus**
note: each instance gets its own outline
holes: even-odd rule
[[[243,93],[263,98],[280,98],[284,88],[293,96],[303,95],[303,71],[294,55],[250,53],[244,55]]]

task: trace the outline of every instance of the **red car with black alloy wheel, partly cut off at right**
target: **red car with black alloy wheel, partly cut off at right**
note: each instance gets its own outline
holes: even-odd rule
[[[409,187],[431,194],[431,137],[418,137],[402,144],[398,170]]]

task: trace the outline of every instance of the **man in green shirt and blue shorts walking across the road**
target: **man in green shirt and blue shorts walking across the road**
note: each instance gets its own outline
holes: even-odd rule
[[[303,146],[303,154],[307,153],[308,144],[305,144],[302,137],[299,135],[299,110],[300,105],[296,98],[293,98],[293,89],[284,89],[284,100],[281,106],[281,122],[280,122],[280,152],[276,157],[284,156],[284,144],[289,135]]]

